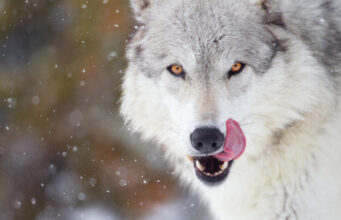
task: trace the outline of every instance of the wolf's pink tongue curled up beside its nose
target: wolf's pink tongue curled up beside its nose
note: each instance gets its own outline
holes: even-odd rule
[[[246,139],[238,122],[233,119],[226,121],[226,139],[224,151],[215,155],[218,160],[230,161],[243,154],[246,147]]]

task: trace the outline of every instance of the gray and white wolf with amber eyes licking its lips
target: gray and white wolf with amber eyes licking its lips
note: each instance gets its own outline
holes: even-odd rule
[[[341,218],[341,2],[131,0],[121,113],[217,220]]]

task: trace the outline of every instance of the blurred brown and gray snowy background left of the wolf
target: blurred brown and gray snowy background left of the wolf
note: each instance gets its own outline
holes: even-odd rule
[[[210,219],[118,115],[128,0],[0,0],[0,220]]]

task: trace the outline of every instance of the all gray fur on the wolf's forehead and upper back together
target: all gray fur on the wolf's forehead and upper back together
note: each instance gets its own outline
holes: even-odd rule
[[[148,55],[136,53],[135,59],[141,56],[163,57],[160,53],[168,54],[170,47],[186,45],[196,53],[197,62],[203,64],[201,69],[209,68],[213,55],[219,56],[228,51],[238,55],[235,59],[249,63],[261,73],[269,67],[271,57],[276,51],[275,36],[271,36],[267,25],[278,25],[306,41],[322,62],[331,65],[331,70],[335,71],[340,66],[341,10],[335,1],[269,0],[264,1],[259,10],[244,6],[245,10],[254,10],[252,13],[256,15],[264,13],[264,17],[252,13],[241,15],[241,12],[233,11],[234,7],[231,5],[236,3],[231,1],[177,1],[174,6],[171,1],[161,0],[159,4],[162,4],[162,9],[147,0],[137,2],[139,4],[134,3],[133,8],[139,14],[138,20],[148,24],[139,30],[140,34],[136,35],[135,40],[154,47],[153,50],[144,51]],[[219,4],[220,10],[215,11],[210,6],[213,4]],[[161,13],[144,12],[148,10],[147,7],[155,7]],[[163,13],[164,10],[167,12]],[[308,16],[312,19],[306,19]],[[254,44],[255,42],[258,43]],[[150,66],[145,60],[141,60],[140,65],[142,68],[142,65]],[[143,69],[147,75],[161,72],[160,68]],[[206,71],[209,72],[210,69]]]

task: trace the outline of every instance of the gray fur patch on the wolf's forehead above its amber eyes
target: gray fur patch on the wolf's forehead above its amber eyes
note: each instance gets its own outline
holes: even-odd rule
[[[195,53],[196,61],[200,63],[198,69],[204,70],[200,74],[212,71],[212,65],[215,65],[212,58],[232,55],[235,60],[252,65],[256,72],[265,72],[271,64],[276,42],[266,29],[258,28],[257,23],[262,21],[248,16],[239,18],[239,14],[236,15],[229,4],[223,5],[226,10],[217,13],[210,7],[211,4],[208,1],[201,4],[184,1],[177,5],[174,12],[169,12],[169,15],[150,15],[148,24],[139,30],[141,33],[136,35],[135,40],[143,42],[142,47],[143,44],[153,44],[154,47],[143,50],[144,54],[130,51],[128,54],[132,55],[128,57],[136,60],[146,75],[158,75],[164,66],[153,70],[145,68],[152,65],[140,57],[150,56],[153,57],[150,60],[155,60],[154,58],[163,57],[161,54],[171,55],[168,52],[171,48],[185,46]],[[164,7],[171,8],[167,5]],[[159,62],[162,63],[162,60]],[[228,72],[228,68],[225,71]]]

